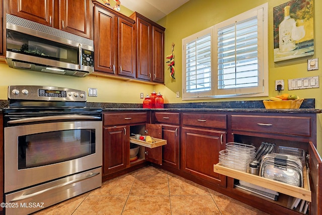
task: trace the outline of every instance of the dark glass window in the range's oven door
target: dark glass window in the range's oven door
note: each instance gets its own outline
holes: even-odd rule
[[[18,169],[40,167],[95,154],[95,129],[18,136]]]

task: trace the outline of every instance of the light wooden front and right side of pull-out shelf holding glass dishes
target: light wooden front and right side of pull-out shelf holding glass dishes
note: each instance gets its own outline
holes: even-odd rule
[[[220,163],[215,164],[213,166],[213,171],[215,173],[228,176],[230,178],[247,181],[249,183],[252,183],[258,186],[262,186],[271,190],[275,190],[280,193],[284,193],[289,196],[293,196],[293,197],[304,199],[306,201],[311,202],[311,191],[308,184],[309,183],[308,174],[306,172],[305,167],[303,170],[304,187],[297,187],[283,182],[267,179],[261,176],[252,175],[250,173],[241,172],[228,167],[224,167]]]

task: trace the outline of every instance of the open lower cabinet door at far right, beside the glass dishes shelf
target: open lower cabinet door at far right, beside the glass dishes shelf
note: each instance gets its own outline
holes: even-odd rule
[[[310,203],[310,214],[322,214],[322,160],[318,155],[312,142],[309,142],[309,171],[312,202]]]

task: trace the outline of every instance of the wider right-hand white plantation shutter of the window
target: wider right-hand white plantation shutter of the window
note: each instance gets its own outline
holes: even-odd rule
[[[216,95],[262,93],[263,9],[215,26],[217,36]]]

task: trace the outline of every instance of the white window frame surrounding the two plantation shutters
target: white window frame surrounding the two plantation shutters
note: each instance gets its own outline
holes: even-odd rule
[[[217,56],[217,31],[220,27],[229,26],[234,22],[248,20],[254,15],[258,18],[258,75],[259,89],[257,92],[245,92],[246,88],[230,88],[218,89],[218,56]],[[260,23],[259,23],[260,22]],[[196,40],[198,37],[205,36],[211,32],[211,90],[187,93],[186,88],[186,44]],[[268,89],[268,3],[255,7],[247,12],[236,15],[221,23],[215,24],[207,29],[197,32],[182,39],[183,53],[182,53],[182,88],[183,100],[191,99],[215,99],[215,98],[249,98],[249,97],[264,97],[269,95]],[[240,90],[242,89],[242,90]],[[248,88],[249,89],[249,88]]]

